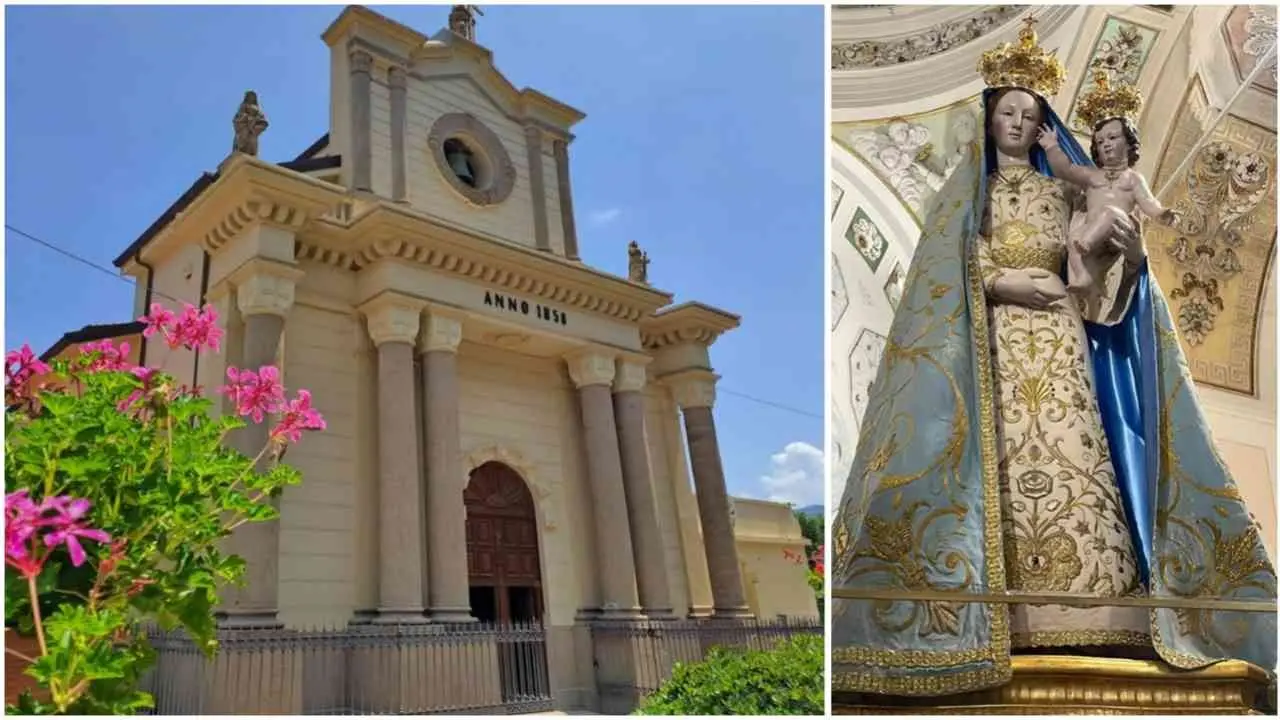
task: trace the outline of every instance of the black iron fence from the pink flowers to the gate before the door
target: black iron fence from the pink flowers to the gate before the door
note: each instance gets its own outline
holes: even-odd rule
[[[223,629],[206,659],[148,633],[156,715],[516,714],[552,708],[538,624]]]

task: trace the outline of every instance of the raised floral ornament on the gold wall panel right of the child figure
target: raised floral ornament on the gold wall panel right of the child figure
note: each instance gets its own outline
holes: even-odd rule
[[[1245,232],[1258,222],[1267,197],[1271,163],[1260,152],[1225,141],[1201,150],[1187,178],[1187,199],[1178,202],[1178,233],[1165,254],[1181,272],[1170,291],[1181,301],[1178,329],[1188,345],[1203,345],[1224,311],[1222,286],[1240,274]]]

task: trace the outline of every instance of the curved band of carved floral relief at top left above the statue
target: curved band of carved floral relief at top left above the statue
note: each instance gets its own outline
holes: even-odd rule
[[[831,69],[879,68],[922,60],[959,47],[1018,17],[1018,5],[995,5],[963,20],[933,26],[908,37],[837,42],[831,49]]]

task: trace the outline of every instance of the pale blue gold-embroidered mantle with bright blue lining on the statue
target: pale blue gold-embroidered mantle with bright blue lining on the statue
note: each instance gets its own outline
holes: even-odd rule
[[[1046,110],[1071,160],[1089,164]],[[1032,161],[1052,174],[1039,147]],[[941,696],[998,685],[1011,674],[1007,606],[884,597],[1006,589],[992,357],[974,246],[993,169],[995,149],[984,141],[923,213],[832,527],[832,588],[881,596],[832,601],[835,691]],[[1119,322],[1087,324],[1087,334],[1147,592],[1274,603],[1275,570],[1213,447],[1146,263]],[[1271,671],[1276,662],[1275,614],[1153,609],[1151,637],[1174,667],[1239,659]]]

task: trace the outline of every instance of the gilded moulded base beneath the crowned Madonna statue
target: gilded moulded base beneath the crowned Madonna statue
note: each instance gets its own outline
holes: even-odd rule
[[[836,715],[1275,715],[1275,684],[1238,660],[1175,670],[1151,660],[1015,655],[1014,678],[941,697],[832,696]]]

